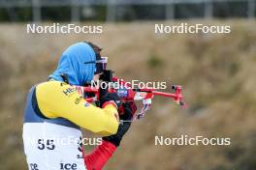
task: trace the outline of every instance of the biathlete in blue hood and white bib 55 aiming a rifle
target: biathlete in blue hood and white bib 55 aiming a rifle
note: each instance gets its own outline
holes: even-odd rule
[[[105,93],[98,107],[86,102],[76,88],[97,79],[105,70],[100,51],[91,42],[69,46],[48,81],[30,89],[22,134],[30,170],[100,170],[130,128],[134,102],[121,103],[116,93]],[[121,105],[124,114],[119,116]],[[119,120],[125,121],[120,124]],[[89,155],[83,153],[80,128],[104,136]]]

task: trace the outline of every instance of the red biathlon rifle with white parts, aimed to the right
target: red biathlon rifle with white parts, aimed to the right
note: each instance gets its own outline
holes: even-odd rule
[[[108,92],[117,93],[123,102],[134,100],[143,101],[143,108],[139,111],[139,113],[136,114],[136,116],[134,116],[134,120],[138,120],[144,117],[145,112],[150,109],[152,99],[155,96],[173,99],[176,104],[180,105],[182,108],[186,107],[186,104],[183,101],[182,87],[180,85],[173,85],[171,93],[159,92],[152,88],[132,88],[130,83],[125,82],[123,79],[112,76],[113,72],[114,71],[111,70],[105,70],[100,76],[100,80],[108,82]],[[86,101],[94,102],[96,104],[99,103],[101,94],[101,89],[99,87],[86,85],[77,87],[77,89],[80,94],[85,95],[84,99]],[[89,95],[86,96],[86,94]]]

